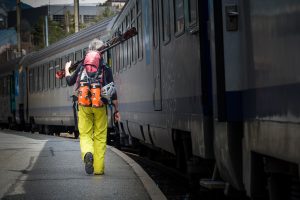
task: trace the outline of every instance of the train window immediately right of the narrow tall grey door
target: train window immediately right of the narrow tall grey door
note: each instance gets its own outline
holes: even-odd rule
[[[162,1],[163,3],[163,42],[164,44],[168,43],[171,39],[170,37],[170,2],[169,0]]]

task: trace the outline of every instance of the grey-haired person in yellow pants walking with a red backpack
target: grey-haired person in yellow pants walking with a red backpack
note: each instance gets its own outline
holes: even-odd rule
[[[95,175],[104,173],[108,123],[106,104],[110,100],[115,108],[115,120],[120,120],[112,71],[97,51],[102,45],[101,40],[92,40],[81,67],[77,67],[72,74],[69,73],[71,61],[65,65],[67,83],[75,84],[75,91],[78,91],[81,157],[86,173]]]

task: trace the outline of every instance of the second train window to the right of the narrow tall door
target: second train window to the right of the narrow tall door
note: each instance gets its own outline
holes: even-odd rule
[[[183,0],[174,0],[175,35],[178,36],[184,31],[184,4]]]

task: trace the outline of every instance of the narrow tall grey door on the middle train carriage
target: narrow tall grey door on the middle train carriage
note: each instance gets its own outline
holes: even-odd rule
[[[154,79],[154,110],[162,110],[161,100],[161,54],[160,54],[160,0],[152,0],[153,27],[153,79]]]

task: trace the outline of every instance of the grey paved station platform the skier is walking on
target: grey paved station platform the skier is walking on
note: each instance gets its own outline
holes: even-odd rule
[[[104,175],[87,175],[78,139],[0,131],[1,199],[166,199],[132,159],[108,146]]]

